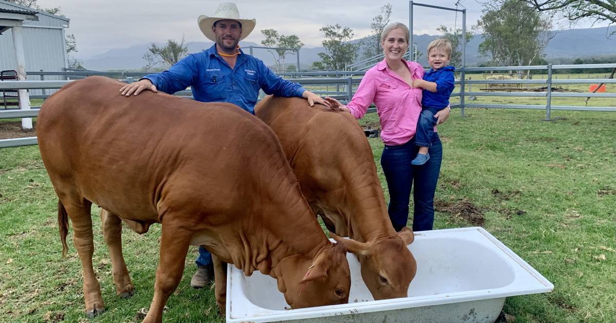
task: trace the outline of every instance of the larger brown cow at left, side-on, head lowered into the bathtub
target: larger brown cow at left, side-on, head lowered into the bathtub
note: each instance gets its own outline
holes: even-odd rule
[[[228,103],[150,92],[126,98],[118,95],[122,85],[100,77],[71,82],[38,116],[41,157],[60,199],[63,253],[68,214],[89,316],[104,310],[92,268],[92,203],[109,211],[103,226],[118,294],[132,293],[120,260],[120,219],[139,233],[162,225],[144,322],[162,321],[189,245],[206,245],[219,269],[225,261],[246,275],[259,270],[274,277],[293,308],[347,303],[346,252],[320,229],[269,127]],[[223,309],[224,274],[216,275]]]

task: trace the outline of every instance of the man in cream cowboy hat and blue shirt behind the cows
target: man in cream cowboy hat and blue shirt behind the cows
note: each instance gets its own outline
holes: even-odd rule
[[[319,103],[330,106],[323,98],[297,83],[286,81],[274,74],[265,64],[244,54],[238,42],[246,38],[256,25],[255,19],[241,19],[233,2],[221,3],[214,17],[200,15],[197,19],[201,32],[216,42],[208,50],[183,58],[169,70],[149,74],[138,82],[120,89],[121,95],[138,95],[143,90],[168,94],[192,89],[193,97],[201,102],[229,102],[254,114],[259,89],[279,97],[302,97],[310,106]],[[203,288],[214,278],[212,256],[199,247],[198,269],[190,285]]]

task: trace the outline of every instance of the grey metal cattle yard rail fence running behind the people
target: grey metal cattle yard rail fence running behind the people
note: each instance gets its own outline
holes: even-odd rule
[[[571,69],[612,69],[612,75],[610,78],[595,78],[595,79],[556,79],[553,78],[554,70],[571,70]],[[461,69],[458,69],[460,71]],[[508,73],[510,75],[522,75],[529,71],[547,71],[548,76],[546,79],[522,79],[522,78],[507,78],[507,79],[471,79],[472,76],[477,74],[472,73],[485,73],[494,71],[500,71],[498,74]],[[503,73],[505,71],[505,73]],[[464,73],[469,79],[457,79],[455,83],[458,85],[458,92],[452,93],[452,97],[479,97],[479,96],[492,96],[492,97],[545,97],[545,105],[513,105],[513,104],[493,104],[493,103],[453,103],[452,108],[460,108],[461,116],[464,116],[464,110],[466,108],[513,108],[513,109],[534,109],[545,110],[546,118],[544,120],[553,120],[551,118],[552,110],[575,110],[575,111],[616,111],[616,106],[559,106],[552,105],[551,98],[553,97],[596,97],[596,98],[616,98],[616,91],[614,92],[601,92],[594,91],[591,93],[580,92],[553,92],[553,86],[559,84],[591,84],[597,85],[596,89],[600,89],[604,84],[616,84],[616,79],[612,78],[616,71],[615,64],[580,64],[580,65],[538,65],[538,66],[494,66],[494,67],[469,67],[464,68]],[[60,89],[68,82],[75,79],[86,78],[87,76],[99,75],[108,76],[116,79],[120,79],[123,82],[131,83],[136,79],[141,78],[146,72],[102,72],[102,71],[63,71],[63,72],[46,72],[46,71],[34,71],[27,72],[28,77],[38,77],[40,81],[2,81],[0,82],[0,92],[4,90],[18,90],[18,89],[42,89],[43,95],[31,95],[30,98],[42,98],[45,99],[51,95],[52,90]],[[354,91],[362,81],[365,71],[314,71],[314,72],[291,72],[291,73],[279,73],[281,76],[290,79],[294,82],[299,82],[302,86],[309,87],[313,92],[318,95],[328,95],[330,97],[347,102],[353,97]],[[479,74],[480,75],[480,74]],[[58,76],[65,78],[63,81],[48,81],[46,78]],[[471,87],[473,84],[487,84],[488,89],[481,92],[466,90],[466,87]],[[498,84],[498,86],[490,87],[490,84]],[[490,89],[508,89],[509,84],[514,90],[490,90]],[[535,86],[539,84],[545,87],[545,90],[537,91],[530,90],[529,84]],[[330,90],[331,87],[331,90]],[[192,92],[190,90],[183,90],[176,93],[176,95],[192,98]],[[263,93],[259,94],[259,98],[263,97]],[[22,107],[21,110],[2,110],[0,111],[0,119],[12,119],[12,118],[35,118],[38,115],[40,106],[28,106]],[[368,113],[376,112],[376,108],[368,109]],[[36,137],[26,138],[13,138],[0,140],[0,148],[14,147],[14,146],[27,146],[36,145]]]

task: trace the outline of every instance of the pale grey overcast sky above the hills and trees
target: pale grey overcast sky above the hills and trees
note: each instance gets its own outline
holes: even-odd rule
[[[213,15],[222,1],[207,0],[39,0],[44,8],[60,6],[70,18],[67,33],[75,34],[79,52],[87,59],[108,49],[130,47],[166,39],[207,41],[197,26],[199,15]],[[274,28],[282,34],[296,34],[306,47],[321,46],[325,25],[339,23],[353,29],[354,38],[368,36],[372,18],[387,2],[392,4],[392,22],[408,25],[408,0],[237,0],[241,18],[256,18],[257,25],[246,41],[259,43],[261,30]],[[453,0],[421,1],[435,6],[455,7]],[[461,1],[466,7],[466,26],[470,30],[481,15],[476,0]],[[414,34],[436,34],[439,25],[461,28],[462,17],[453,11],[415,7]],[[585,28],[590,24],[581,25]]]

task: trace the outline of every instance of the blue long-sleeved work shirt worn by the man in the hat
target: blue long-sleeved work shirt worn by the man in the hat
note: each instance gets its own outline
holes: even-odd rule
[[[193,98],[200,102],[229,102],[254,114],[259,89],[278,97],[302,97],[306,89],[274,74],[258,58],[241,54],[232,69],[216,51],[216,44],[208,50],[182,58],[169,70],[149,74],[157,90],[168,94],[190,86]]]

